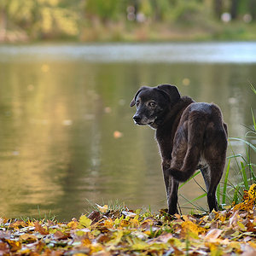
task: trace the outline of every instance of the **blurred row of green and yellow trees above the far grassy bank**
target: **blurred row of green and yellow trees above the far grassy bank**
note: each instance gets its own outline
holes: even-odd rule
[[[96,32],[119,24],[120,33],[137,22],[218,26],[224,13],[231,22],[249,23],[256,20],[256,0],[0,0],[0,41],[8,32],[32,39],[79,38],[84,27],[93,31],[99,24]]]

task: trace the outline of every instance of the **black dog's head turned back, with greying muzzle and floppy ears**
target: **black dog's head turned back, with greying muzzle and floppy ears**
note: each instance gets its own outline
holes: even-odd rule
[[[165,119],[166,113],[178,102],[180,94],[177,87],[171,84],[160,84],[156,87],[143,86],[137,91],[130,106],[136,105],[133,116],[137,125],[150,125],[157,128]]]

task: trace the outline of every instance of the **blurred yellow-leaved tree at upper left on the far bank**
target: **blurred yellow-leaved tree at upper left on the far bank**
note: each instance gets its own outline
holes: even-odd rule
[[[1,0],[0,31],[24,30],[32,38],[51,38],[79,33],[78,12],[67,0]],[[0,35],[1,37],[1,35]],[[1,38],[0,38],[1,39]]]

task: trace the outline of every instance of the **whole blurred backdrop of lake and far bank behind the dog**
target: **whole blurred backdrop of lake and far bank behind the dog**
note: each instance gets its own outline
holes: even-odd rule
[[[166,207],[154,131],[134,125],[131,99],[142,85],[176,84],[217,103],[230,137],[244,137],[255,19],[255,0],[1,0],[0,216]],[[232,154],[255,162],[243,143],[230,141]],[[180,189],[183,212],[204,193],[196,182]],[[205,197],[195,204],[207,209]]]

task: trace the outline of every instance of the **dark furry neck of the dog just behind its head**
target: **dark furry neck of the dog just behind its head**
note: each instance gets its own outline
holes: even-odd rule
[[[170,105],[166,112],[163,115],[154,121],[154,124],[150,125],[151,128],[157,130],[160,126],[173,125],[175,119],[180,119],[177,117],[177,113],[180,112],[183,108],[187,108],[191,103],[195,102],[189,96],[182,96],[174,105]],[[173,119],[175,117],[175,119]]]

